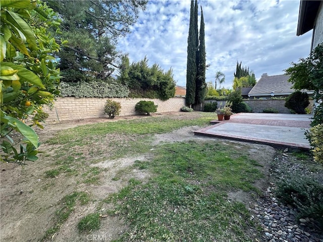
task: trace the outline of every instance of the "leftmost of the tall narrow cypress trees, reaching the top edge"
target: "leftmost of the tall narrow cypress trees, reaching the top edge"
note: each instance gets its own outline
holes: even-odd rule
[[[196,36],[194,29],[194,1],[191,1],[190,26],[187,39],[187,69],[186,69],[186,105],[191,106],[195,101],[196,90]]]

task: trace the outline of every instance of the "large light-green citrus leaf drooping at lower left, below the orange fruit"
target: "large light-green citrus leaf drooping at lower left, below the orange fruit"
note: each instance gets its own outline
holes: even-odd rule
[[[29,140],[34,147],[38,148],[38,136],[36,132],[28,125],[25,125],[17,118],[6,115],[4,117],[1,117],[1,122],[6,124],[8,122],[12,123],[15,130],[20,132],[27,140]]]

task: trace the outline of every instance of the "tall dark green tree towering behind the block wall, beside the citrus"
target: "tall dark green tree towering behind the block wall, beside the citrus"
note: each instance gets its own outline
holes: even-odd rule
[[[117,38],[130,32],[146,0],[54,0],[69,42],[57,54],[65,81],[107,80],[118,68]]]

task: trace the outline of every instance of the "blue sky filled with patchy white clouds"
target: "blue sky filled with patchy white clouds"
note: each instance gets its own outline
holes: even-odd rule
[[[218,71],[222,87],[231,88],[237,61],[249,67],[258,81],[263,73],[284,74],[290,63],[310,52],[309,31],[296,36],[299,3],[294,0],[198,0],[205,24],[206,82],[214,84]],[[131,33],[119,39],[117,49],[129,53],[130,62],[147,56],[148,64],[173,69],[174,80],[186,86],[187,37],[190,0],[148,0]],[[219,84],[218,84],[219,88]]]

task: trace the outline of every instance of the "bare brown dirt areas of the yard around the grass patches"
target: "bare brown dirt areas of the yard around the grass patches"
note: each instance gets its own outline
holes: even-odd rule
[[[177,115],[177,118],[185,118],[184,113],[163,113],[158,115]],[[51,138],[56,132],[73,128],[85,124],[97,122],[116,122],[117,120],[127,120],[134,118],[145,118],[146,116],[125,116],[115,119],[96,118],[79,120],[77,122],[46,124],[44,130],[37,130],[40,141]],[[186,140],[207,140],[212,138],[194,136],[193,130],[199,127],[187,127],[176,130],[168,134],[154,136],[153,144],[160,142],[176,142]],[[213,138],[214,139],[214,138]],[[268,161],[274,159],[276,150],[270,146],[232,142],[218,139],[223,144],[235,146],[236,149],[248,149],[254,160],[264,165],[264,173],[268,170]],[[145,170],[127,169],[135,160],[148,160],[151,158],[149,153],[141,154],[138,157],[124,157],[119,160],[105,160],[93,166],[106,168],[106,172],[101,174],[100,185],[78,184],[73,178],[46,178],[44,172],[51,165],[50,159],[46,159],[46,154],[57,153],[55,146],[43,144],[41,150],[45,153],[40,155],[36,162],[29,162],[27,166],[20,167],[14,164],[2,163],[0,166],[1,175],[1,241],[40,241],[45,231],[52,226],[52,217],[55,217],[57,209],[61,206],[61,199],[74,192],[85,191],[91,196],[91,202],[87,205],[76,206],[75,211],[64,222],[60,230],[49,240],[52,241],[90,241],[93,236],[109,234],[109,238],[102,241],[110,241],[118,234],[125,231],[127,224],[115,217],[105,217],[102,219],[101,229],[95,231],[91,236],[80,234],[76,224],[81,215],[95,211],[99,201],[108,194],[119,191],[123,188],[129,178],[146,179],[152,174]],[[112,180],[122,171],[122,176],[118,180]],[[62,177],[62,176],[60,176]],[[257,186],[264,189],[267,186],[266,178],[258,181]],[[231,193],[231,199],[245,202],[247,205],[252,200],[251,196],[244,193]],[[105,205],[107,206],[107,205]],[[109,207],[102,207],[109,209]],[[104,235],[104,236],[105,236]],[[48,240],[48,241],[49,241]]]

